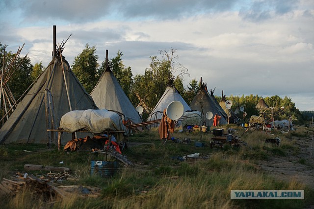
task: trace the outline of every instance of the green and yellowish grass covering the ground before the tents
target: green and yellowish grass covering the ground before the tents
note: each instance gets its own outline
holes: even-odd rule
[[[243,129],[231,126],[237,136]],[[296,149],[293,139],[277,135],[281,146],[265,144],[269,136],[260,131],[245,133],[241,140],[248,145],[242,148],[224,146],[196,147],[195,141],[209,145],[210,133],[199,132],[172,134],[176,139],[191,139],[190,144],[167,141],[162,146],[157,131],[134,133],[131,143],[139,144],[123,151],[134,167],[123,167],[111,178],[90,174],[91,160],[105,160],[105,156],[89,152],[58,152],[47,150],[44,145],[9,144],[0,146],[0,177],[9,178],[15,172],[24,172],[24,164],[43,164],[70,167],[78,181],[64,181],[62,185],[98,186],[102,194],[98,198],[78,198],[75,193],[68,198],[47,203],[21,190],[15,196],[0,200],[1,208],[305,208],[313,205],[313,190],[294,179],[279,181],[257,169],[254,164],[271,157],[284,157],[287,151]],[[275,137],[275,136],[273,136]],[[30,151],[25,152],[24,150]],[[195,162],[173,160],[178,156],[200,153],[208,159]],[[174,157],[174,158],[173,158]],[[245,162],[244,162],[245,161]],[[306,163],[305,159],[298,162]],[[34,172],[34,175],[38,172]],[[44,173],[41,173],[44,174]],[[231,189],[304,189],[305,200],[230,200]]]

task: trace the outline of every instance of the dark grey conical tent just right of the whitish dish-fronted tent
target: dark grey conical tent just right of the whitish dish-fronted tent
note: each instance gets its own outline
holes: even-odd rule
[[[192,110],[200,111],[204,116],[207,112],[211,112],[213,116],[216,114],[222,116],[205,85],[201,85],[201,89],[192,100],[190,108]],[[220,124],[227,124],[227,121],[223,116],[220,118]]]

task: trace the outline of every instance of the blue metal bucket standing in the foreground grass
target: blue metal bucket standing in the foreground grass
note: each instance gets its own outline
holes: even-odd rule
[[[117,161],[91,161],[91,174],[97,174],[102,177],[111,177],[119,170]]]

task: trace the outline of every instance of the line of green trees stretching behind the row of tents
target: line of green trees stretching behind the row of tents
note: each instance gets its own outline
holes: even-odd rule
[[[6,47],[6,45],[0,43],[0,66],[2,66],[2,69],[5,69],[5,66],[10,63],[15,55],[12,51],[6,51]],[[135,75],[133,75],[130,66],[125,66],[122,59],[122,51],[118,51],[113,58],[108,60],[108,66],[105,66],[105,60],[99,64],[99,56],[96,54],[96,50],[96,46],[86,44],[85,48],[75,57],[73,65],[71,65],[71,69],[87,93],[91,93],[106,67],[112,70],[133,106],[137,107],[142,102],[142,105],[145,104],[147,112],[154,109],[164,93],[170,78],[174,79],[174,87],[181,93],[187,104],[190,104],[200,89],[199,78],[192,78],[187,86],[183,85],[183,79],[190,77],[190,72],[179,62],[176,49],[171,48],[169,50],[158,51],[158,56],[154,55],[150,57],[149,67],[143,69],[143,74]],[[5,59],[3,59],[4,55]],[[16,69],[9,79],[8,85],[16,99],[26,91],[37,76],[45,69],[42,62],[32,65],[27,55],[22,65],[13,66],[13,68]],[[208,86],[208,89],[214,91],[215,87]],[[215,98],[219,102],[222,98],[219,95],[221,93],[215,92],[215,94]],[[235,111],[241,106],[244,107],[244,111],[247,114],[244,120],[247,120],[252,115],[260,114],[256,105],[261,98],[262,96],[257,94],[226,96],[226,99],[233,102],[232,111]],[[276,119],[288,119],[290,117],[295,123],[303,123],[306,120],[311,120],[314,116],[314,111],[299,111],[292,99],[287,96],[282,98],[274,95],[263,97],[263,99],[266,104],[273,108],[272,112],[280,112]],[[144,113],[143,117],[147,117],[147,114]],[[239,117],[243,119],[242,114]]]

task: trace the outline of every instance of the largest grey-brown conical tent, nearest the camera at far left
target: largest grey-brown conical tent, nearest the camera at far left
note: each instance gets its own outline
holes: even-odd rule
[[[70,108],[71,104],[71,108]],[[53,57],[0,129],[0,142],[49,143],[47,129],[59,127],[71,110],[97,109],[66,60]],[[63,139],[71,139],[64,134]]]

